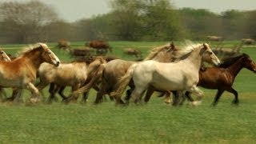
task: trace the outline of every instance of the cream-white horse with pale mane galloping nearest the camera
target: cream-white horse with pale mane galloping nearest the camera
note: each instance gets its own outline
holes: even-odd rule
[[[138,102],[148,86],[154,86],[158,90],[177,90],[178,95],[183,91],[194,92],[198,100],[202,98],[202,91],[198,89],[198,71],[202,58],[210,58],[211,62],[218,65],[220,61],[210,50],[206,43],[186,46],[178,50],[175,62],[144,61],[130,66],[126,74],[118,81],[118,89],[111,93],[120,102],[123,91],[133,78],[135,89],[133,90],[130,102]],[[178,98],[175,99],[176,101]]]

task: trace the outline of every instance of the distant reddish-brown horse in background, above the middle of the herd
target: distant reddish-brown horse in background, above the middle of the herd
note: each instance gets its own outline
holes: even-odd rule
[[[110,45],[102,40],[94,40],[89,43],[86,43],[86,46],[90,46],[91,48],[96,49],[97,54],[106,54],[107,50],[110,50],[112,52],[112,48]]]

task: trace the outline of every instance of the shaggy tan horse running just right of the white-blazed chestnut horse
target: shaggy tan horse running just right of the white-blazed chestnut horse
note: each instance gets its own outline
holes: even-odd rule
[[[42,63],[38,69],[38,77],[40,82],[37,87],[38,90],[42,90],[48,84],[50,84],[50,97],[48,102],[52,102],[52,99],[55,98],[55,93],[59,90],[58,94],[62,96],[64,102],[70,102],[74,99],[66,98],[62,91],[65,89],[65,86],[71,86],[72,92],[77,90],[82,84],[86,82],[86,79],[90,74],[97,73],[99,65],[106,62],[103,58],[95,58],[93,62],[87,61],[74,61],[69,63],[62,63],[61,66],[54,67],[48,63]]]

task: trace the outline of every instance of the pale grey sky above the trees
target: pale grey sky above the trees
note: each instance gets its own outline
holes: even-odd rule
[[[11,1],[30,2],[30,0],[0,0],[0,2]],[[60,18],[67,22],[110,12],[110,0],[41,0],[41,2],[53,6]],[[218,14],[225,10],[256,10],[256,0],[170,0],[170,2],[176,8],[208,9]]]

